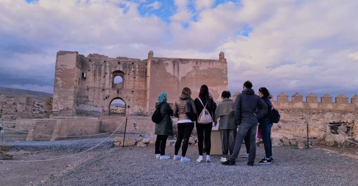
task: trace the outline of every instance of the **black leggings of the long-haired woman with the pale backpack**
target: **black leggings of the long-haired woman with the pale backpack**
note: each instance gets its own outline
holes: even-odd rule
[[[205,150],[206,154],[210,155],[211,150],[211,129],[213,128],[213,123],[208,124],[200,124],[197,123],[197,132],[198,132],[198,149],[199,155],[203,156],[203,141],[204,141],[204,133],[205,133]]]

